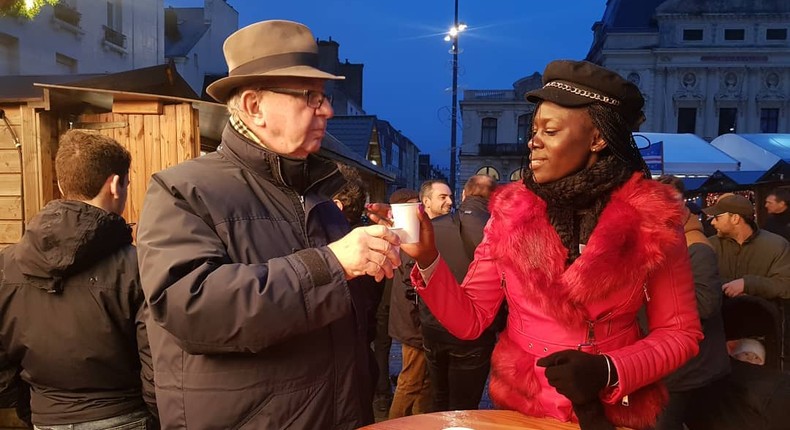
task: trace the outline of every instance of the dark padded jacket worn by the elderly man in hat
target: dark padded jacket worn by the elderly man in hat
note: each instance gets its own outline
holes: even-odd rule
[[[138,246],[163,428],[372,421],[369,348],[327,247],[348,231],[344,179],[311,155],[299,194],[288,163],[228,125],[216,152],[153,175]]]

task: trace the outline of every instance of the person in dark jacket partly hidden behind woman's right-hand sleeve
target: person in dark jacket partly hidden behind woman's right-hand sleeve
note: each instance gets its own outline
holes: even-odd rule
[[[685,186],[680,178],[664,175],[658,182],[674,187],[678,192],[678,204],[683,205]],[[683,209],[697,311],[705,337],[699,344],[699,354],[664,378],[669,404],[659,416],[656,430],[683,430],[684,425],[690,430],[710,428],[707,425],[709,414],[721,400],[724,379],[730,373],[716,252],[703,233],[699,218],[686,205]]]

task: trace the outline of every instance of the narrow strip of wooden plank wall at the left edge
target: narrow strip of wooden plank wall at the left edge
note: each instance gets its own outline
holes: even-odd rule
[[[2,105],[16,135],[22,136],[22,113],[18,105]],[[22,237],[22,166],[19,150],[5,121],[0,120],[0,248]]]

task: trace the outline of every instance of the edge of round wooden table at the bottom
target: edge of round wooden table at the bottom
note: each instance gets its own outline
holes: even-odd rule
[[[573,423],[532,418],[515,411],[434,412],[382,421],[360,430],[579,430]]]

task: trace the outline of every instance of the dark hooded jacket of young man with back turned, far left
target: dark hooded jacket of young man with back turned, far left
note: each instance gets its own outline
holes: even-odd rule
[[[110,418],[145,408],[144,397],[156,413],[137,254],[122,217],[50,202],[0,254],[0,269],[0,374],[16,368],[30,384],[34,424]],[[0,377],[0,392],[9,382]]]

